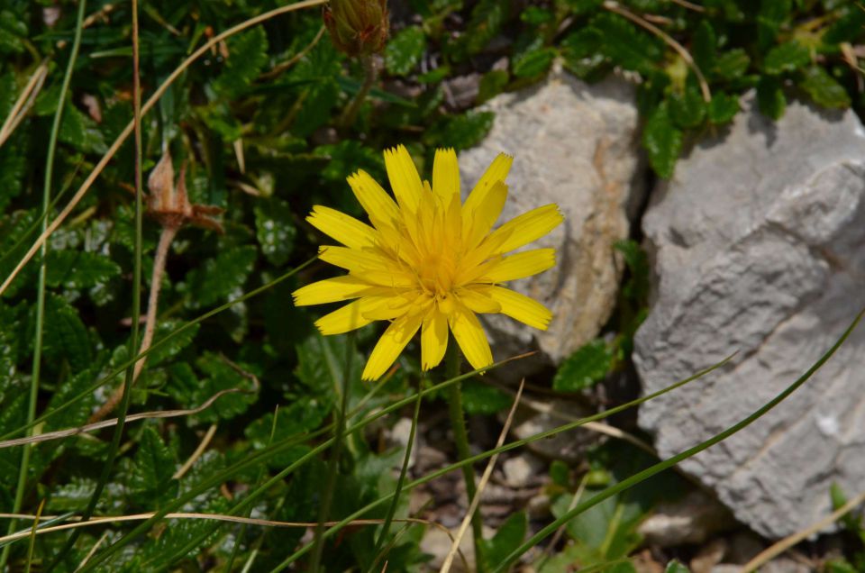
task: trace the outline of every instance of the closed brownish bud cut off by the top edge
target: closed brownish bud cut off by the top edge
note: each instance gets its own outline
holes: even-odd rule
[[[351,57],[369,56],[385,47],[390,26],[387,0],[331,0],[323,18],[333,45]]]

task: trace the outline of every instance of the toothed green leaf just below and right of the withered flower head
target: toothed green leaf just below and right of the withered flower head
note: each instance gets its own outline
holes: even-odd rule
[[[238,294],[255,265],[258,250],[246,245],[221,251],[187,273],[188,304],[192,308],[213,305]]]

